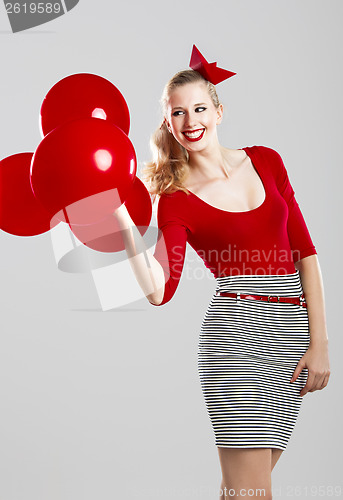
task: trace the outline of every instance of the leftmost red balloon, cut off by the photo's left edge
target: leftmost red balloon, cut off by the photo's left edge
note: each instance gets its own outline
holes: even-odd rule
[[[33,153],[18,153],[0,161],[0,227],[16,236],[36,236],[60,221],[34,196],[30,184]]]

